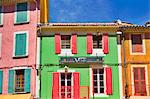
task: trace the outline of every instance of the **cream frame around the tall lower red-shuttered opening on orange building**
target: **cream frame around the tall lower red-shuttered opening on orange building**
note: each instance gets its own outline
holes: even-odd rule
[[[147,96],[149,96],[149,86],[148,85],[148,68],[147,68],[148,65],[131,65],[131,85],[132,85],[132,96],[135,96],[135,88],[134,88],[134,68],[138,68],[138,67],[144,67],[145,68],[145,83],[146,83],[146,94]]]

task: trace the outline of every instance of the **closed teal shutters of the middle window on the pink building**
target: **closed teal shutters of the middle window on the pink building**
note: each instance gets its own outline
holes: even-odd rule
[[[27,34],[16,34],[15,56],[26,55]]]

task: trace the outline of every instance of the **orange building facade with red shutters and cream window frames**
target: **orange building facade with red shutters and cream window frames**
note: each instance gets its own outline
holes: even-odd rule
[[[150,99],[150,27],[122,27],[121,61],[123,95]]]

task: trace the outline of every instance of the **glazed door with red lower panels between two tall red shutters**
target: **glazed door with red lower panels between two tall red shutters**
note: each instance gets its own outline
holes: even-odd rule
[[[61,73],[61,99],[72,98],[72,73]]]

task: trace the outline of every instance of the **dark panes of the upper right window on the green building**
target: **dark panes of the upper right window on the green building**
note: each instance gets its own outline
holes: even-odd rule
[[[93,48],[97,49],[97,48],[102,48],[102,36],[93,36]]]

